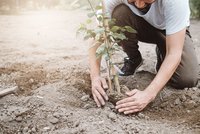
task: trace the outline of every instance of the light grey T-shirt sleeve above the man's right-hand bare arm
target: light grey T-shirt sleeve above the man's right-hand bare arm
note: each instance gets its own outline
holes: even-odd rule
[[[190,25],[188,0],[165,0],[164,17],[166,34],[174,34]]]

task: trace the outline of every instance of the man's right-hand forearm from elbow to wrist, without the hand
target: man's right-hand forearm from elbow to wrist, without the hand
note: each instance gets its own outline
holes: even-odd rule
[[[153,79],[151,84],[146,88],[154,97],[158,94],[160,90],[166,85],[169,79],[172,77],[176,68],[180,64],[181,53],[169,54],[163,61],[160,70],[158,71],[156,77]]]

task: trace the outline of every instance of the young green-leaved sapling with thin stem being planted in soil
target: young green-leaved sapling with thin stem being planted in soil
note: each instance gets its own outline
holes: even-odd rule
[[[117,26],[115,25],[115,19],[111,19],[109,14],[105,11],[105,4],[102,0],[101,5],[93,8],[91,2],[88,0],[91,8],[91,13],[88,14],[89,19],[86,24],[81,24],[78,33],[84,33],[84,39],[92,38],[95,40],[97,46],[96,57],[104,58],[107,68],[107,80],[109,85],[109,92],[117,92],[121,94],[121,87],[119,84],[117,66],[113,61],[113,55],[116,51],[121,50],[118,43],[122,40],[126,40],[125,32],[135,33],[136,31],[130,26]],[[93,17],[97,21],[95,28],[89,26],[93,22]]]

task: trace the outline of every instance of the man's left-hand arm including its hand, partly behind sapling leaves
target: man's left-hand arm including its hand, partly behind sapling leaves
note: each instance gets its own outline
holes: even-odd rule
[[[94,43],[93,43],[94,44]],[[100,76],[101,58],[96,58],[96,50],[99,44],[89,49],[90,77],[92,81],[92,95],[98,107],[105,105],[108,100],[104,89],[108,88],[106,80]]]

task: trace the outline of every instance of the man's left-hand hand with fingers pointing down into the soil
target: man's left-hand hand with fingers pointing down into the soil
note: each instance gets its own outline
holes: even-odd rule
[[[99,76],[92,79],[92,95],[98,107],[105,105],[105,100],[108,100],[104,90],[107,88],[108,85],[104,78]]]

